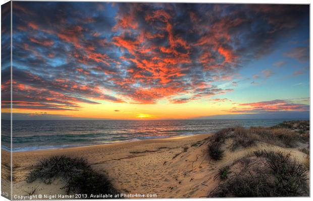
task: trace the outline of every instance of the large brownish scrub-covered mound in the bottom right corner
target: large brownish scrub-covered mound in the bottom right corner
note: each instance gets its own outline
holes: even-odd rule
[[[210,197],[308,196],[307,170],[281,152],[254,152],[237,161],[241,169],[210,192]],[[222,171],[224,172],[224,171]]]

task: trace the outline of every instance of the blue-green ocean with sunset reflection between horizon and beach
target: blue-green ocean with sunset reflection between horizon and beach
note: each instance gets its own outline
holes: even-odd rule
[[[273,126],[284,120],[291,119],[16,120],[13,121],[12,130],[13,151],[23,152],[190,136],[215,132],[221,128],[236,125]],[[9,123],[10,121],[2,120],[2,149],[5,150],[10,150]]]

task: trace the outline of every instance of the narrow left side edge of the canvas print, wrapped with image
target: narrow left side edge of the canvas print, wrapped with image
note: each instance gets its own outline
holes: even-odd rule
[[[1,195],[12,199],[12,1],[1,6]]]

